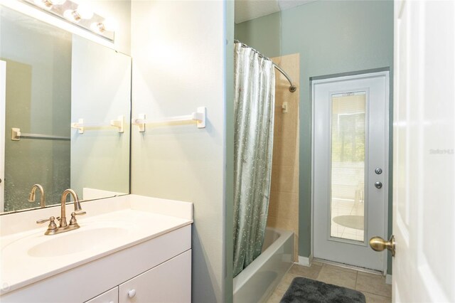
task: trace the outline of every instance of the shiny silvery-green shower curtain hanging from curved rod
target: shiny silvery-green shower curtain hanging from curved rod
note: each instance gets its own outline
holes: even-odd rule
[[[235,43],[234,277],[261,254],[272,176],[275,74],[271,60]]]

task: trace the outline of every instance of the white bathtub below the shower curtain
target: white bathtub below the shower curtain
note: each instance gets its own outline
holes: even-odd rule
[[[262,253],[234,278],[235,303],[265,302],[294,262],[294,233],[267,228]]]

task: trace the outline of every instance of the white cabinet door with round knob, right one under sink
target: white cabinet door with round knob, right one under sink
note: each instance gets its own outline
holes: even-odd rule
[[[119,285],[119,302],[191,302],[191,250]]]

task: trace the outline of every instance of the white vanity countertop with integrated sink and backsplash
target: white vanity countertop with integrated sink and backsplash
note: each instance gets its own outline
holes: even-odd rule
[[[122,201],[114,201],[117,203],[114,211],[107,213],[102,208],[112,205],[109,199],[98,205],[95,203],[101,201],[82,203],[87,216],[77,217],[80,228],[76,230],[44,235],[45,223],[39,228],[1,236],[1,294],[193,223],[192,203],[134,195],[117,199]],[[50,210],[50,216],[58,216],[60,212],[60,208]],[[89,216],[90,211],[94,216]],[[172,213],[176,216],[169,216]],[[20,215],[8,216],[21,220]]]

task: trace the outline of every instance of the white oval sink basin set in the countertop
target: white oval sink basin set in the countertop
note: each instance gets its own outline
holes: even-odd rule
[[[128,233],[129,230],[127,228],[118,227],[101,227],[88,230],[78,228],[77,230],[62,233],[58,238],[53,235],[48,236],[49,240],[34,245],[27,251],[27,254],[31,257],[69,255],[83,250],[94,249],[101,245],[109,245],[117,237],[125,237]]]

